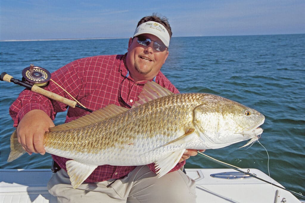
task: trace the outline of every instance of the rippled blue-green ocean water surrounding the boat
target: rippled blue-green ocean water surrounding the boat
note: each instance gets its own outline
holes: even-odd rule
[[[1,73],[21,79],[30,64],[50,72],[82,57],[124,54],[128,39],[0,42]],[[285,188],[305,194],[305,34],[174,37],[163,73],[180,92],[220,95],[265,115],[260,138],[270,157],[270,175]],[[0,82],[0,167],[50,168],[50,155],[23,155],[7,163],[13,121],[9,106],[23,87]],[[63,123],[59,113],[55,124]],[[259,143],[207,150],[206,154],[241,168],[268,173],[267,153]],[[200,157],[187,168],[223,168]]]

